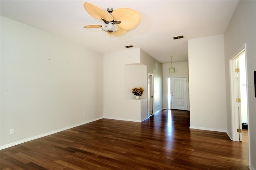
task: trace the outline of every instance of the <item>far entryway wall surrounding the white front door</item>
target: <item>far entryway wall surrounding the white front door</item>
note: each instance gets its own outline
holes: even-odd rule
[[[172,67],[175,68],[174,73],[169,72],[171,63],[163,64],[163,107],[168,109],[168,87],[167,79],[175,77],[188,77],[188,61],[172,63]],[[188,103],[189,110],[189,103]]]

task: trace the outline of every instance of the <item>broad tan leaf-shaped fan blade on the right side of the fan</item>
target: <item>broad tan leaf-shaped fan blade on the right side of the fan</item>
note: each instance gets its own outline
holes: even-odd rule
[[[117,8],[112,12],[114,20],[120,20],[118,24],[123,30],[131,30],[140,23],[140,12],[130,8]]]

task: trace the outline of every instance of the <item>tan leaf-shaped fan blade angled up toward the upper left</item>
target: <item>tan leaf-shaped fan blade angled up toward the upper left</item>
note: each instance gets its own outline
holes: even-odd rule
[[[84,2],[84,8],[91,16],[93,16],[98,20],[101,20],[101,18],[104,18],[107,21],[113,20],[112,16],[108,12],[102,10],[101,8],[99,8],[94,4],[91,4],[89,2]]]

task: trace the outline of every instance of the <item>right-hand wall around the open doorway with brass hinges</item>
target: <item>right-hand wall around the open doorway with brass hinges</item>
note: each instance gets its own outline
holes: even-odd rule
[[[248,134],[250,169],[256,169],[256,98],[254,97],[254,71],[256,71],[256,1],[239,1],[224,34],[226,68],[226,103],[228,132],[232,133],[230,109],[229,60],[246,43],[248,85]]]

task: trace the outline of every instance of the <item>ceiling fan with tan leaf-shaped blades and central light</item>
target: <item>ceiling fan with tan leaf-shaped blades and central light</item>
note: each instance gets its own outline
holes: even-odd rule
[[[130,8],[107,8],[102,10],[89,2],[84,3],[85,10],[94,18],[104,22],[103,25],[88,25],[84,28],[102,28],[113,36],[126,34],[128,30],[136,27],[140,22],[140,12]]]

